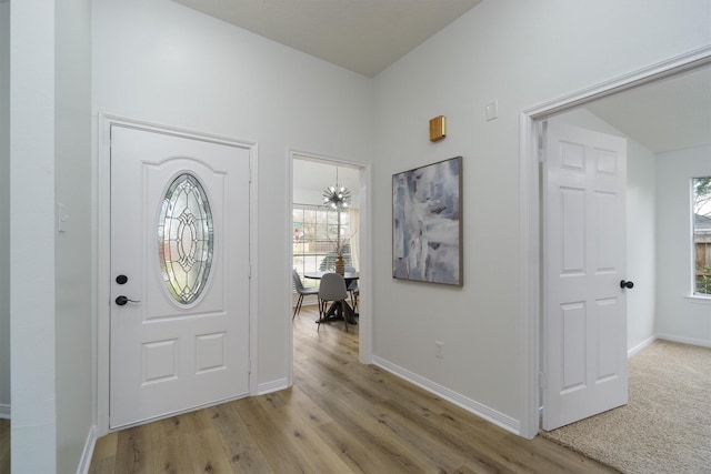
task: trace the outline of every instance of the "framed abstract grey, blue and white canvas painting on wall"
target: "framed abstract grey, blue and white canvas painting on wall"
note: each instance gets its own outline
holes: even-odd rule
[[[462,285],[462,158],[392,175],[392,276]]]

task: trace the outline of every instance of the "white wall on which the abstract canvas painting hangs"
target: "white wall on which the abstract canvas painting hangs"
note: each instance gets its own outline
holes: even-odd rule
[[[392,280],[390,246],[373,246],[380,361],[518,430],[527,383],[519,249],[528,239],[519,232],[519,114],[710,43],[710,14],[707,0],[484,0],[375,78],[373,242],[391,239],[391,175],[455,155],[464,226],[461,289]],[[485,121],[494,99],[499,118]],[[439,114],[448,137],[433,144],[428,120]]]

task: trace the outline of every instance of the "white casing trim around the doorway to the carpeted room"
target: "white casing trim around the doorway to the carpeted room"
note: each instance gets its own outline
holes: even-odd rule
[[[570,111],[619,92],[638,88],[661,79],[680,74],[711,64],[711,46],[705,46],[601,82],[559,99],[541,103],[521,112],[519,121],[519,310],[521,373],[521,436],[533,438],[539,430],[540,367],[541,367],[541,281],[542,245],[541,228],[541,183],[539,179],[539,121],[557,113]]]

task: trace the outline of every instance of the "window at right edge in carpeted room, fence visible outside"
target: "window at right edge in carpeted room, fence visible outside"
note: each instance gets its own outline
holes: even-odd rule
[[[693,292],[711,295],[711,177],[694,178],[692,189]]]

